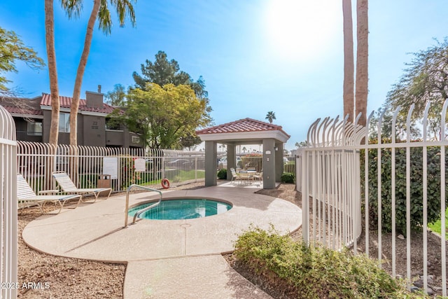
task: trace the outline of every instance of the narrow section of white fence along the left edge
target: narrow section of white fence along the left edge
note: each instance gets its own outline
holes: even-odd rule
[[[15,124],[10,114],[0,106],[0,196],[1,196],[1,291],[0,298],[17,298],[18,239],[17,239],[17,144]]]

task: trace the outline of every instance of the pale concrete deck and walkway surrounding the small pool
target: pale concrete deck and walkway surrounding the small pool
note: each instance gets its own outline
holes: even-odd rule
[[[210,187],[166,192],[169,198],[206,197],[232,203],[230,211],[187,220],[141,220],[125,226],[125,196],[114,196],[60,214],[45,214],[22,232],[32,248],[55,256],[127,263],[124,298],[270,298],[241,277],[221,253],[233,250],[250,225],[292,232],[302,211],[256,189]],[[130,206],[154,199],[130,195]],[[132,218],[129,219],[129,222]]]

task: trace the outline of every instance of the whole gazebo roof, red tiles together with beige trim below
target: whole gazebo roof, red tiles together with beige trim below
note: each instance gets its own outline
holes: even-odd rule
[[[290,138],[290,135],[286,134],[280,125],[273,125],[252,118],[244,118],[198,130],[196,134],[202,141],[217,141],[223,144],[262,144],[263,139],[275,139],[286,143]]]

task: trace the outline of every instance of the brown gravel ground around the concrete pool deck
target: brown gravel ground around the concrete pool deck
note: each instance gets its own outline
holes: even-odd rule
[[[204,182],[191,183],[174,187],[174,190],[203,188]],[[300,193],[295,191],[293,184],[281,184],[272,190],[260,190],[260,194],[279,197],[302,207]],[[54,207],[49,204],[45,212],[52,211]],[[27,223],[41,216],[39,209],[22,209],[18,216],[19,253],[18,253],[18,281],[34,283],[41,288],[20,288],[18,298],[123,298],[123,283],[125,268],[123,264],[99,263],[89,260],[63,258],[39,253],[30,249],[22,240],[22,230]],[[312,228],[312,223],[310,223]],[[300,228],[291,235],[294,239],[302,238]],[[363,249],[364,237],[360,238],[358,246]],[[418,279],[423,269],[422,238],[421,234],[414,234],[412,241],[412,274]],[[391,272],[391,236],[384,235],[381,242],[384,258],[383,267]],[[397,273],[406,277],[406,240],[397,240]],[[370,234],[370,256],[377,256],[377,235]],[[276,286],[262,281],[254,273],[242,265],[236,265],[232,255],[225,256],[230,265],[248,280],[263,288],[274,298],[288,298]],[[428,271],[433,275],[430,286],[435,294],[441,293],[440,283],[440,238],[430,237],[428,241]],[[38,284],[40,283],[40,285]],[[46,283],[46,284],[45,284]]]

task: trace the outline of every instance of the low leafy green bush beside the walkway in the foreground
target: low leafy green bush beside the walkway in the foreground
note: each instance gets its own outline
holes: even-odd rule
[[[234,256],[283,290],[288,298],[412,298],[403,280],[393,279],[377,261],[351,251],[333,251],[251,228],[235,243]],[[415,295],[414,298],[421,298]]]

